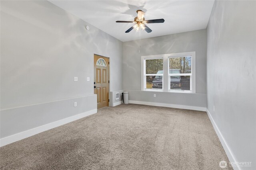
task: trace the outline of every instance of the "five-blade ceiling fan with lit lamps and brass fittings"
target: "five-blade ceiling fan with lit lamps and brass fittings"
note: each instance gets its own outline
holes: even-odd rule
[[[142,10],[137,10],[138,16],[134,18],[134,21],[116,21],[116,22],[124,22],[124,23],[135,23],[132,27],[130,27],[126,33],[132,31],[132,29],[135,29],[136,31],[139,31],[140,29],[145,29],[148,33],[152,32],[152,30],[145,25],[145,23],[163,23],[164,19],[155,19],[155,20],[145,20],[144,14]]]

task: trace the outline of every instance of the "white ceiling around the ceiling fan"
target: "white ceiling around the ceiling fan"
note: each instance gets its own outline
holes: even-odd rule
[[[145,20],[164,18],[164,23],[148,23],[151,33],[141,31],[141,38],[157,37],[205,29],[214,0],[50,0],[56,6],[121,41],[139,39],[139,32],[125,31],[133,23],[116,23],[117,20],[133,21],[136,10],[145,12]]]

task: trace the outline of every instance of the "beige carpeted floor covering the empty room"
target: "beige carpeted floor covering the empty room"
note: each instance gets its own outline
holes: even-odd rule
[[[0,148],[3,170],[217,170],[221,160],[228,162],[206,112],[135,104]]]

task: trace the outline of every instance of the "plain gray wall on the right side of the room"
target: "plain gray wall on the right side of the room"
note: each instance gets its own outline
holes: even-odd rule
[[[256,2],[215,1],[207,26],[207,108],[236,161],[256,169]],[[213,110],[215,106],[215,110]]]

